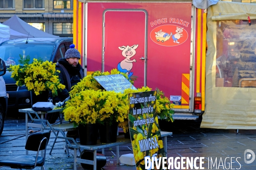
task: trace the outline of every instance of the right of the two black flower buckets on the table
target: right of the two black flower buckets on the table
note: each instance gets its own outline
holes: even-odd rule
[[[113,122],[111,125],[109,122],[105,122],[104,125],[99,125],[99,137],[101,143],[113,143],[116,142],[118,123]]]

